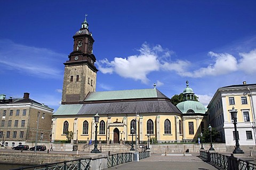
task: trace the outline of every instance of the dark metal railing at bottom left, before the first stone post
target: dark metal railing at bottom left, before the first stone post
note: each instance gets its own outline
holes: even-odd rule
[[[20,167],[11,170],[89,170],[90,168],[91,159],[76,159],[76,160],[68,160],[59,163],[51,163],[51,164],[42,164],[42,165],[35,165],[35,166],[27,166],[27,167]]]

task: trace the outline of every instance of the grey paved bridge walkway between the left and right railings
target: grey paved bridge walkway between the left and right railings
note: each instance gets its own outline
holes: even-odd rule
[[[139,162],[121,164],[109,169],[130,170],[130,169],[158,169],[158,170],[182,170],[182,169],[202,169],[216,170],[214,166],[204,162],[197,157],[198,154],[151,154],[149,158],[141,159]]]

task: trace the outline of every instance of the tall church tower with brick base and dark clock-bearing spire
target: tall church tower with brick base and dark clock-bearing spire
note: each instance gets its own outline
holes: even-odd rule
[[[85,20],[75,33],[73,52],[64,63],[65,71],[62,88],[61,104],[79,104],[90,91],[96,89],[97,68],[92,54],[94,39]]]

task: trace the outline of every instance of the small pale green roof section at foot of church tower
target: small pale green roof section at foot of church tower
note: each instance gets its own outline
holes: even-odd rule
[[[53,114],[54,115],[74,115],[81,109],[82,104],[75,104],[75,105],[60,105],[57,111]]]

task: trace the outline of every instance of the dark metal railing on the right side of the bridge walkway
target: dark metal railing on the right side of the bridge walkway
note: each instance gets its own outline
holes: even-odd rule
[[[226,170],[256,170],[256,164],[236,158],[218,154],[216,152],[200,151],[200,157],[211,164]]]

